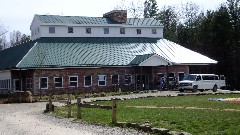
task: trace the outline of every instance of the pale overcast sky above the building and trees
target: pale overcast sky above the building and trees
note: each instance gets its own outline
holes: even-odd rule
[[[125,3],[145,0],[125,0]],[[204,10],[215,10],[226,0],[157,0],[158,7],[178,5],[192,1]],[[122,0],[4,0],[0,5],[0,24],[9,32],[19,30],[30,35],[34,14],[101,17],[121,5]],[[9,33],[7,33],[9,35]]]

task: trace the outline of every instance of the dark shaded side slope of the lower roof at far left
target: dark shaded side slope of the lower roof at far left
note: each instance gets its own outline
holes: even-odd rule
[[[14,68],[33,47],[35,41],[28,41],[0,51],[0,69]]]

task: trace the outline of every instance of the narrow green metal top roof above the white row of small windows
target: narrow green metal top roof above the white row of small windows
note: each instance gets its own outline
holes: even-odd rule
[[[122,24],[114,22],[106,17],[84,17],[84,16],[59,16],[59,15],[35,15],[42,23],[56,24]],[[161,25],[160,21],[153,18],[128,18],[127,25]]]

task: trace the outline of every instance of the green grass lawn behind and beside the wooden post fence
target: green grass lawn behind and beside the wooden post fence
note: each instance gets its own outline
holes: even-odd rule
[[[117,121],[185,131],[197,135],[239,135],[240,102],[209,101],[208,98],[233,98],[240,94],[198,95],[131,99],[117,102]],[[111,105],[112,102],[94,102]],[[66,107],[55,109],[55,115],[66,117]],[[76,105],[73,107],[76,117]],[[82,109],[82,120],[111,125],[111,111]]]

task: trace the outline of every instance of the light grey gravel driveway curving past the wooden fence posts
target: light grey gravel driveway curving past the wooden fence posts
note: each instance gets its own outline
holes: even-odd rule
[[[210,92],[207,92],[210,93]],[[222,93],[222,91],[220,91]],[[228,93],[223,91],[223,93]],[[147,96],[176,96],[178,92],[157,92],[117,96],[117,98],[138,98]],[[113,97],[99,97],[96,99],[111,99]],[[94,99],[83,99],[89,101]],[[58,103],[53,103],[57,105]],[[144,134],[132,129],[112,128],[107,126],[77,123],[71,119],[56,118],[43,114],[45,102],[0,104],[0,135],[134,135]]]

